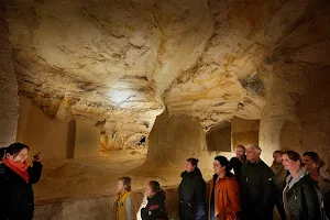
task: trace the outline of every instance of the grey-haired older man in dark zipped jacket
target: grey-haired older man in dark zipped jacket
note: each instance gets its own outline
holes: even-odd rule
[[[272,220],[276,201],[273,170],[260,158],[261,148],[250,145],[241,173],[243,220]]]

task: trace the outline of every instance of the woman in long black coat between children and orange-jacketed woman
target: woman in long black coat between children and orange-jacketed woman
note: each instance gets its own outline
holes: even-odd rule
[[[197,167],[197,158],[188,158],[186,170],[182,173],[179,194],[179,219],[206,219],[206,183]]]

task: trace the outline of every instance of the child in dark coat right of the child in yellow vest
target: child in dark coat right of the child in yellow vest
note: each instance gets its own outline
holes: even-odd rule
[[[165,207],[165,191],[158,182],[152,180],[145,189],[147,204],[141,209],[142,220],[168,220]]]

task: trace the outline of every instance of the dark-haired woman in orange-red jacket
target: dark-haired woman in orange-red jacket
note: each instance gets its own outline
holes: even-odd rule
[[[210,183],[210,219],[238,220],[241,211],[240,187],[227,167],[229,161],[224,156],[216,156],[215,175]]]

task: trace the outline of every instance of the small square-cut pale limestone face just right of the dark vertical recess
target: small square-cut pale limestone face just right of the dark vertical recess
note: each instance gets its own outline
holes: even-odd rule
[[[74,158],[100,155],[100,129],[94,121],[76,121],[76,140]]]

